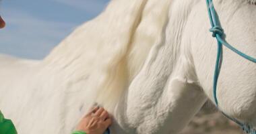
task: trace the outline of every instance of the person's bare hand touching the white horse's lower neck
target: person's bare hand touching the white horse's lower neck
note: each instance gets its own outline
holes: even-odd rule
[[[102,107],[95,107],[88,113],[76,128],[76,131],[85,131],[88,134],[102,134],[112,121]]]

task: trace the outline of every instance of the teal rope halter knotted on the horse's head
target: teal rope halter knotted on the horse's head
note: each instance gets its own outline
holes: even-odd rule
[[[210,31],[212,32],[212,36],[214,38],[216,38],[216,40],[218,42],[218,52],[217,52],[216,66],[215,66],[215,70],[214,70],[214,87],[213,87],[214,88],[214,101],[216,103],[216,106],[218,107],[217,84],[218,84],[218,77],[219,77],[219,74],[220,74],[220,64],[222,62],[222,46],[223,45],[226,46],[226,48],[232,50],[233,52],[235,52],[239,56],[242,56],[243,58],[245,58],[245,59],[247,59],[251,62],[256,63],[256,58],[248,56],[247,54],[244,54],[243,52],[237,50],[236,48],[234,48],[233,46],[228,44],[228,42],[226,42],[222,38],[222,36],[224,34],[224,30],[220,26],[220,21],[219,21],[217,15],[216,15],[216,10],[214,8],[214,3],[212,2],[212,0],[206,0],[206,3],[207,3],[208,14],[209,14],[209,17],[210,17],[210,23],[212,25],[212,28],[210,29]],[[241,123],[237,119],[229,117],[228,115],[226,115],[223,112],[222,112],[222,114],[225,115],[225,117],[227,117],[228,119],[237,123],[239,126],[241,126],[243,128],[243,131],[245,131],[246,133],[256,134],[256,130],[253,129],[249,124]]]

